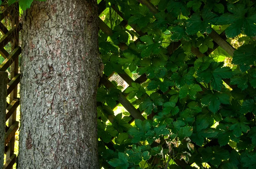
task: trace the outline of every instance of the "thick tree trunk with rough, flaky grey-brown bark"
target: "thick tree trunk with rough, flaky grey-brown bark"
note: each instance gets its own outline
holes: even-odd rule
[[[18,168],[98,169],[96,0],[24,12]]]

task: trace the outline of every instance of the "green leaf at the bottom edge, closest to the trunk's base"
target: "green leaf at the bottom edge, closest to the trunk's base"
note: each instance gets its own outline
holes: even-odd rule
[[[113,167],[118,167],[119,169],[128,169],[128,155],[123,152],[118,152],[118,158],[113,158],[108,163]]]

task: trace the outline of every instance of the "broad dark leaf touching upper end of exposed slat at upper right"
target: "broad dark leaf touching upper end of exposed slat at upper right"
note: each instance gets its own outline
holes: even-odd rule
[[[203,21],[201,20],[203,18]],[[186,24],[186,33],[189,35],[201,33],[210,34],[212,32],[211,25],[215,25],[218,20],[218,15],[212,13],[209,8],[204,8],[202,15],[194,13]]]

